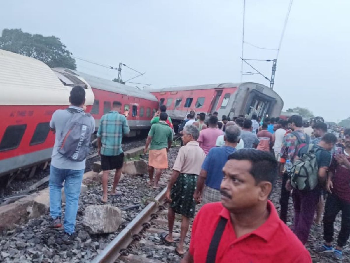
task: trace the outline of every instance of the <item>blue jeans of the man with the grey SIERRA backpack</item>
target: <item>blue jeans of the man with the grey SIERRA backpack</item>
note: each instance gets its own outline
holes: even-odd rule
[[[61,217],[61,191],[64,182],[66,197],[64,231],[68,234],[74,233],[83,174],[84,170],[58,169],[52,165],[50,167],[50,215],[52,218]]]

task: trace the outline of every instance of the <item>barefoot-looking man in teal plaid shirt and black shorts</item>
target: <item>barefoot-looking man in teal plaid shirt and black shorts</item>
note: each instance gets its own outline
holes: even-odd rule
[[[101,156],[102,166],[102,202],[107,202],[107,184],[110,170],[116,169],[114,174],[112,196],[116,196],[116,188],[121,175],[121,168],[124,163],[124,152],[121,148],[121,140],[123,134],[128,134],[130,128],[126,121],[126,117],[120,114],[121,103],[119,101],[113,102],[113,109],[102,116],[100,126],[97,131],[97,145],[98,154]]]

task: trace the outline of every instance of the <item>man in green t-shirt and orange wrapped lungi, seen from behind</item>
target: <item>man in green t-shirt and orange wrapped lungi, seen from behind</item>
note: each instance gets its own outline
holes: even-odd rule
[[[149,185],[153,184],[153,188],[158,188],[158,181],[162,174],[162,169],[168,168],[168,156],[167,152],[172,146],[173,142],[173,130],[166,123],[168,114],[161,112],[159,115],[160,121],[154,123],[149,130],[146,140],[146,146],[144,153],[147,152],[149,144],[149,156],[148,156],[148,174]],[[153,173],[156,169],[155,180],[153,181]]]

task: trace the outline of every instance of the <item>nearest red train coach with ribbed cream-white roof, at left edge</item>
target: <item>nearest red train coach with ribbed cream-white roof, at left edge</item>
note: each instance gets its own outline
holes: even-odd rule
[[[83,87],[91,109],[93,92]],[[51,158],[49,121],[69,106],[70,90],[45,63],[0,49],[0,176]]]

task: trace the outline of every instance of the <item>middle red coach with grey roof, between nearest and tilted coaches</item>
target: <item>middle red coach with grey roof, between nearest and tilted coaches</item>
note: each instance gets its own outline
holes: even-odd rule
[[[129,112],[129,136],[139,135],[141,130],[151,127],[150,121],[158,108],[158,100],[151,93],[76,70],[54,68],[54,71],[72,80],[80,76],[91,86],[95,101],[90,113],[96,121],[96,127],[99,126],[102,115],[111,110],[113,101],[121,102],[122,111]]]

